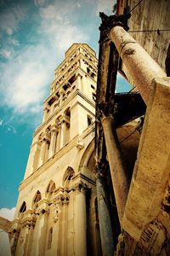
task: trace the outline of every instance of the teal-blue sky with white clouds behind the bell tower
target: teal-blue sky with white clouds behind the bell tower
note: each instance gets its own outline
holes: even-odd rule
[[[54,69],[73,43],[98,56],[99,11],[111,0],[0,0],[0,215],[14,213],[33,131],[42,122]],[[127,90],[118,76],[117,87]]]

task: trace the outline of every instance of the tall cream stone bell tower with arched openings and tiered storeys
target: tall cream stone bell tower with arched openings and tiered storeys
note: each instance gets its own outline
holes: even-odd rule
[[[97,64],[72,44],[34,132],[10,230],[13,255],[100,255],[94,174]]]

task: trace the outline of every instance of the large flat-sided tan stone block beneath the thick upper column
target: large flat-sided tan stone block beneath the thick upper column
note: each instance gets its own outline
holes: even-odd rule
[[[141,238],[145,224],[159,219],[166,198],[170,198],[165,195],[170,177],[170,78],[154,79],[152,86],[122,219],[123,229],[136,241]],[[162,214],[169,216],[168,213],[167,210]],[[167,221],[169,223],[169,219]],[[156,230],[153,230],[152,238],[157,237]],[[147,247],[149,242],[151,244],[151,236],[145,240]]]

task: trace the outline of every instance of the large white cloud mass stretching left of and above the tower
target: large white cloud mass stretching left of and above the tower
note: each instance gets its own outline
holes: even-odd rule
[[[37,43],[15,51],[15,55],[8,59],[8,67],[1,65],[0,79],[3,83],[0,84],[0,96],[3,102],[0,104],[13,108],[15,114],[31,114],[36,120],[41,116],[42,101],[48,96],[56,60],[62,61],[71,44],[84,43],[88,39],[82,29],[71,21],[71,15],[78,6],[77,1],[68,1],[38,9],[41,23]],[[11,40],[13,44],[19,44],[16,39]],[[10,56],[7,51],[3,55]]]

